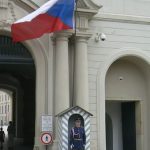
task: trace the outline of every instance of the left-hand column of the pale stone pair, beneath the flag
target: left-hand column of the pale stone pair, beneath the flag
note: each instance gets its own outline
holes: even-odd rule
[[[55,50],[55,115],[69,108],[69,33],[56,34]]]

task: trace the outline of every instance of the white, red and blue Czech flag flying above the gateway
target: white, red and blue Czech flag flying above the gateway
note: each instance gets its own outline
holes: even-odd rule
[[[49,0],[11,26],[14,42],[25,41],[74,27],[75,0]]]

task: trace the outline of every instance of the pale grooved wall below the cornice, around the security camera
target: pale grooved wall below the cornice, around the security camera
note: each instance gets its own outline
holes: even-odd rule
[[[104,67],[105,62],[108,62],[111,57],[114,57],[118,53],[127,51],[127,50],[135,50],[137,52],[141,52],[144,55],[150,56],[150,26],[148,24],[144,24],[142,22],[139,23],[130,23],[130,22],[122,22],[116,20],[101,20],[93,19],[90,22],[90,30],[93,33],[93,37],[88,42],[88,75],[89,75],[89,100],[90,100],[90,111],[94,114],[92,118],[92,146],[97,145],[97,136],[101,135],[98,133],[97,127],[97,112],[100,106],[97,105],[97,77],[98,71],[100,68]],[[106,41],[95,42],[96,33],[104,32],[107,36]],[[130,65],[129,65],[130,66]],[[126,66],[127,68],[127,66]],[[129,67],[130,69],[132,66]],[[133,66],[134,68],[134,66]],[[134,68],[136,69],[136,68]],[[138,70],[136,72],[139,72]],[[126,72],[125,72],[126,74]],[[139,78],[142,73],[139,73]],[[132,80],[132,79],[131,79]],[[134,82],[136,79],[134,79]],[[144,79],[140,79],[144,80]],[[113,83],[115,84],[115,83]],[[135,84],[136,85],[136,84]],[[140,86],[138,86],[140,88]],[[137,91],[137,94],[140,94],[140,89]],[[110,91],[111,92],[111,91]],[[139,92],[139,93],[138,93]],[[111,96],[113,93],[110,93]],[[143,99],[144,94],[141,95],[132,95],[130,96],[135,98]],[[111,97],[110,96],[110,97]],[[129,98],[128,97],[128,98]],[[100,100],[99,100],[100,101]],[[145,104],[144,104],[145,105]],[[147,110],[149,105],[145,105],[144,111]],[[144,128],[147,128],[147,114],[144,113]],[[145,135],[148,132],[145,132]],[[147,136],[147,135],[146,135]],[[99,142],[99,141],[98,141]],[[146,142],[146,139],[144,139]],[[145,144],[145,150],[147,146]]]

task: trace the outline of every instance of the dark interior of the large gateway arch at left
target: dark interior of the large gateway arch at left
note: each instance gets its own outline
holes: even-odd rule
[[[21,43],[0,36],[0,88],[12,92],[14,146],[33,149],[35,137],[35,64]]]

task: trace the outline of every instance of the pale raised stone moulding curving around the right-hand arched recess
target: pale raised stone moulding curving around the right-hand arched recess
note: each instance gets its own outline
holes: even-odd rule
[[[147,65],[150,64],[150,57],[146,52],[139,48],[121,48],[120,52],[109,56],[99,67],[97,75],[97,123],[98,123],[98,149],[106,150],[106,133],[105,133],[105,78],[109,67],[120,58],[133,56],[142,60]]]

